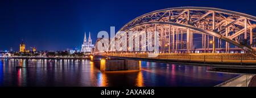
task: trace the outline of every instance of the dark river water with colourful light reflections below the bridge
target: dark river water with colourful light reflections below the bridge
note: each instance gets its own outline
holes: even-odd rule
[[[139,63],[140,71],[101,73],[86,59],[0,59],[0,86],[215,86],[237,76],[205,66]]]

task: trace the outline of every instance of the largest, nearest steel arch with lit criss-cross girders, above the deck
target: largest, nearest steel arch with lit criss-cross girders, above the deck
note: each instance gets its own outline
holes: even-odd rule
[[[122,39],[129,31],[158,31],[160,53],[243,50],[255,54],[255,26],[256,17],[241,12],[211,7],[174,7],[131,20],[117,32],[121,36],[113,40]],[[141,33],[134,36],[139,36],[141,43]]]

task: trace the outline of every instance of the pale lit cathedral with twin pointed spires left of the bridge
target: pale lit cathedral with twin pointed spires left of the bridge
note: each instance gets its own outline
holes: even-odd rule
[[[92,49],[94,48],[94,45],[92,44],[92,39],[90,39],[90,32],[89,32],[89,38],[88,41],[86,39],[86,33],[84,33],[84,43],[82,44],[81,52],[92,52]]]

